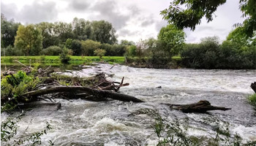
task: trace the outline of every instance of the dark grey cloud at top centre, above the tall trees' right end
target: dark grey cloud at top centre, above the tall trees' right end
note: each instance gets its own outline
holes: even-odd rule
[[[96,15],[94,17],[96,19],[108,20],[110,23],[113,24],[114,28],[116,29],[123,28],[127,25],[127,22],[132,16],[129,14],[120,14],[120,12],[118,12],[118,10],[116,9],[117,7],[118,6],[116,4],[116,1],[100,1],[93,7],[96,12],[99,12],[99,15]]]

